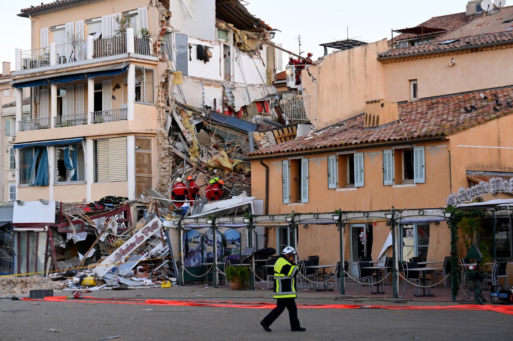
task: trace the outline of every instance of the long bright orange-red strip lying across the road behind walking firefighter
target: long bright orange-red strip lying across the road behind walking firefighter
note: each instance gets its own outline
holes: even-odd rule
[[[168,300],[168,299],[136,299],[136,298],[96,298],[93,296],[84,296],[84,299],[69,299],[68,296],[48,296],[40,298],[21,298],[23,300],[37,300],[47,302],[84,302],[84,303],[108,303],[108,304],[142,304],[142,305],[168,305],[168,306],[196,306],[196,307],[216,307],[216,308],[245,308],[245,309],[273,309],[275,303],[268,302],[210,302],[210,301],[192,301],[192,300]],[[367,306],[367,305],[348,305],[348,304],[298,304],[298,308],[303,309],[389,309],[389,310],[483,310],[495,311],[502,314],[513,315],[513,306],[506,305],[459,305],[459,306]]]

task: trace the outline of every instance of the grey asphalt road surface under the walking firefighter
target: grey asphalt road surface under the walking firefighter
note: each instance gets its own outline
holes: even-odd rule
[[[55,291],[54,296],[71,295]],[[205,300],[274,303],[266,289],[232,291],[203,285],[172,288],[93,291],[111,299]],[[386,310],[374,306],[453,306],[385,297],[326,295],[300,291],[300,304],[348,304],[359,309],[300,308],[305,332],[291,332],[287,311],[266,332],[260,320],[269,309],[178,305],[135,305],[0,299],[2,340],[511,340],[513,315],[495,311]],[[460,305],[461,306],[461,305]]]

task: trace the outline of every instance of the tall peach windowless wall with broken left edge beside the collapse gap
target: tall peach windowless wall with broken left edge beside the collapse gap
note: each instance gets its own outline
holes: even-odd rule
[[[383,65],[376,58],[387,50],[383,39],[329,54],[320,66],[303,70],[305,110],[316,129],[363,113],[366,101],[385,98]]]

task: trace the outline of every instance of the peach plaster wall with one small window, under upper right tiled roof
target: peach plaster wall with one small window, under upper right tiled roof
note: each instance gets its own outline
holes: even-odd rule
[[[417,79],[419,98],[511,85],[513,69],[502,67],[510,55],[511,48],[499,48],[396,63],[382,61],[385,99],[410,100],[412,79]],[[455,63],[451,63],[452,58]]]

